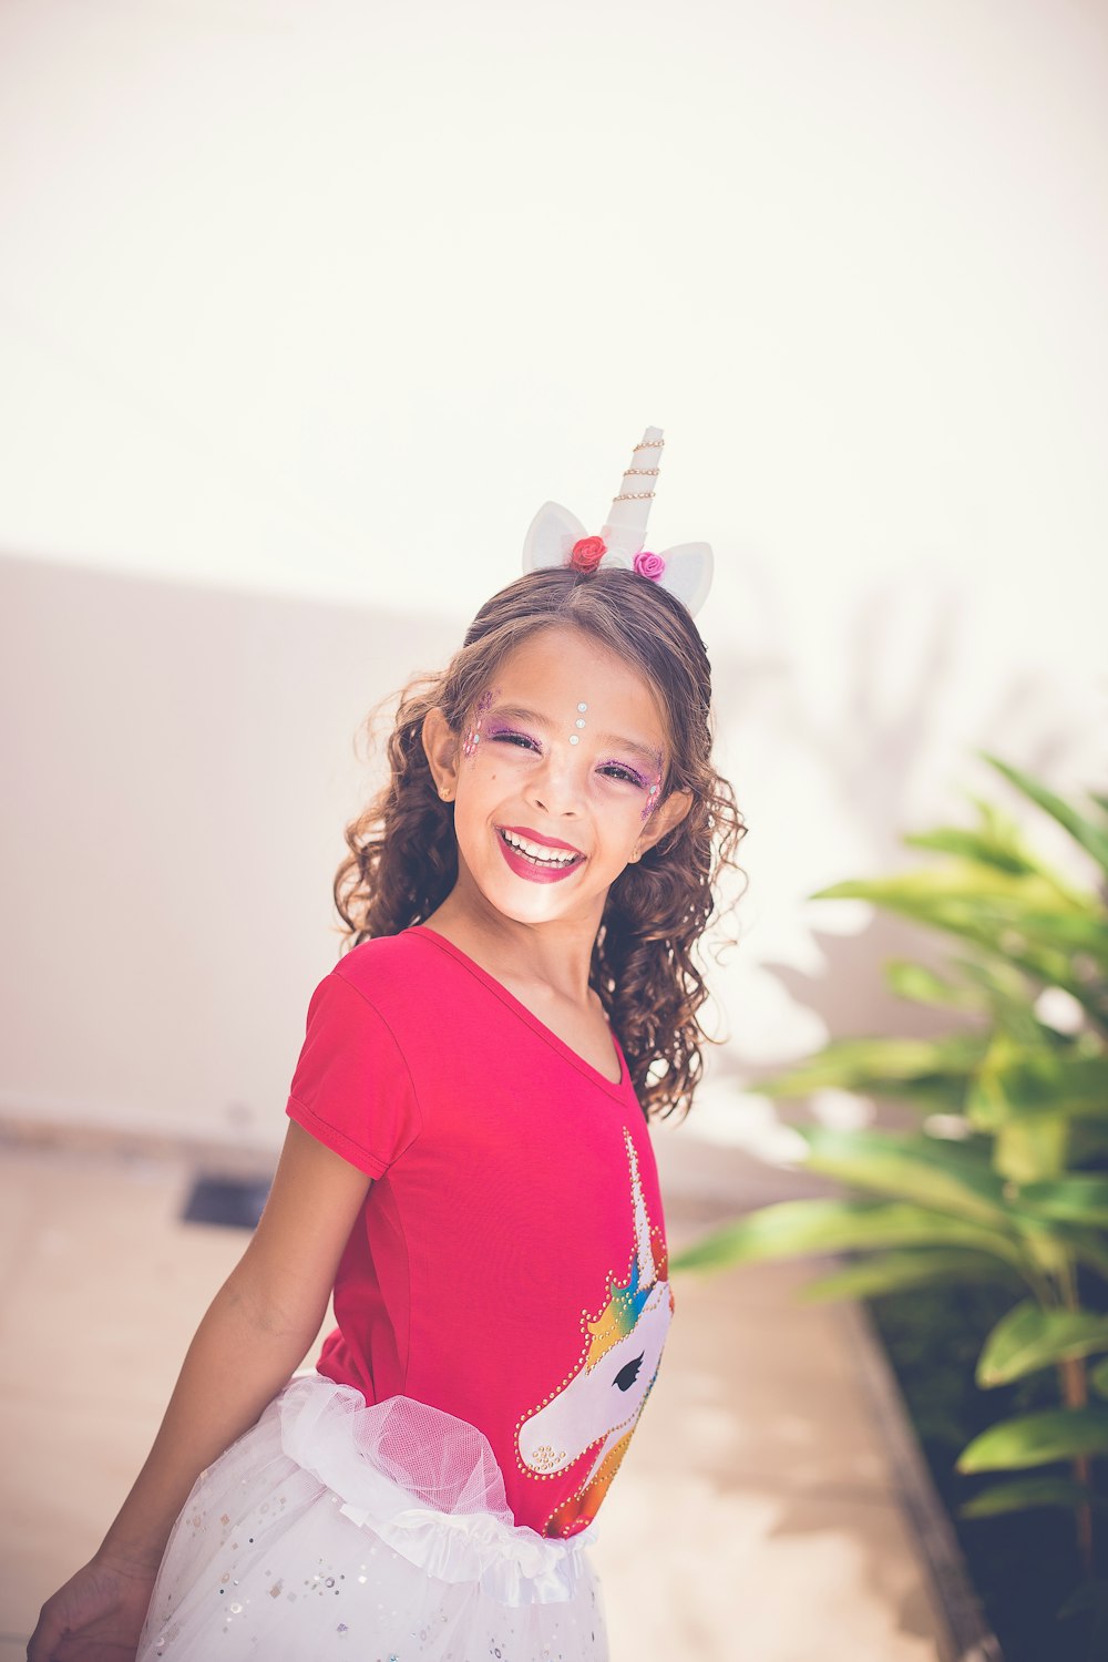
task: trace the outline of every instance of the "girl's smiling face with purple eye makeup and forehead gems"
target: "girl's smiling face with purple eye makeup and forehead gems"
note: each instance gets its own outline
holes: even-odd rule
[[[666,730],[653,688],[591,637],[530,635],[470,711],[458,740],[440,711],[424,730],[435,783],[455,798],[458,883],[518,922],[598,927],[623,868],[688,811],[666,801]]]

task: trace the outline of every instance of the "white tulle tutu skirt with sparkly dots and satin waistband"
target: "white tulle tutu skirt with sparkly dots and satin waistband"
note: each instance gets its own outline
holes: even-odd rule
[[[606,1662],[593,1539],[518,1526],[467,1421],[297,1376],[196,1481],[136,1662]]]

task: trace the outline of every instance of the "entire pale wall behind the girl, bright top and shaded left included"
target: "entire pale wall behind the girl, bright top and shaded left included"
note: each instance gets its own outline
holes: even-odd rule
[[[1106,86],[1100,0],[7,0],[3,1100],[276,1124],[354,726],[648,422],[724,1069],[889,1015],[804,896],[977,746],[1103,788]]]

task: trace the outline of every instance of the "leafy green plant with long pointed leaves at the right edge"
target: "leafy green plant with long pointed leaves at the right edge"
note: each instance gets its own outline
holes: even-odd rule
[[[1108,1453],[1108,798],[1075,806],[980,755],[1066,829],[1096,881],[1071,883],[1010,816],[972,796],[975,828],[904,838],[939,861],[812,896],[865,899],[954,937],[960,952],[945,976],[904,961],[885,976],[899,996],[950,1010],[957,1025],[930,1040],[836,1039],[757,1090],[837,1087],[909,1105],[920,1125],[797,1127],[807,1168],[856,1193],[751,1212],[673,1266],[851,1253],[807,1285],[807,1298],[865,1298],[952,1276],[1008,1283],[1013,1303],[983,1336],[977,1383],[1053,1368],[1058,1404],[1002,1419],[962,1449],[962,1473],[1010,1474],[978,1489],[962,1516],[1073,1509],[1093,1586],[1095,1516],[1108,1511],[1093,1468]],[[1061,997],[1043,997],[1047,989]],[[1093,1587],[1075,1607],[1100,1597]]]

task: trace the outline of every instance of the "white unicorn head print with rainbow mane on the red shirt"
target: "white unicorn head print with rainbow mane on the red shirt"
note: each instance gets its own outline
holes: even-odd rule
[[[610,1276],[608,1300],[595,1318],[581,1313],[585,1343],[576,1366],[522,1416],[515,1431],[520,1466],[530,1476],[555,1476],[591,1454],[580,1487],[547,1519],[548,1536],[576,1534],[596,1516],[655,1383],[673,1316],[664,1238],[646,1217],[638,1155],[626,1128],[623,1143],[633,1225],[626,1276]]]

